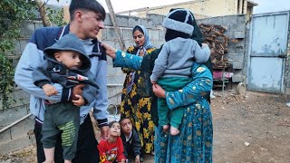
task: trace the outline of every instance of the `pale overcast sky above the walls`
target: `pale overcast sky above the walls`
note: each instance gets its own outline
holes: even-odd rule
[[[48,1],[49,4],[55,5],[63,5],[69,4],[70,0],[44,0]],[[107,5],[105,0],[98,0],[100,4],[104,6],[107,13]],[[114,9],[115,13],[121,11],[127,11],[131,9],[137,8],[144,8],[144,7],[152,7],[152,6],[159,6],[159,5],[171,5],[181,2],[187,2],[190,0],[111,0],[111,5]],[[218,1],[218,0],[217,0]],[[270,13],[276,11],[285,11],[290,10],[290,0],[252,0],[258,5],[254,7],[254,14],[259,13]]]

